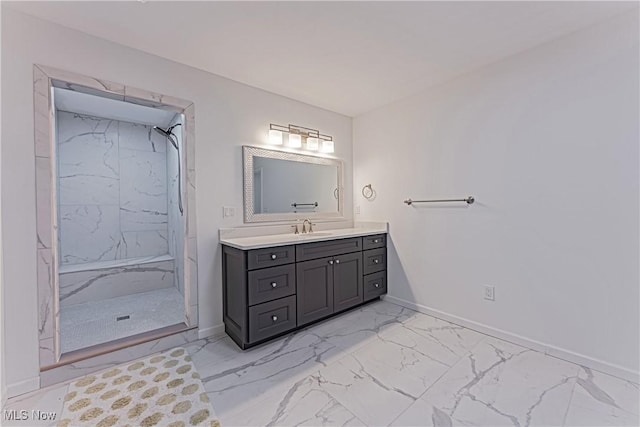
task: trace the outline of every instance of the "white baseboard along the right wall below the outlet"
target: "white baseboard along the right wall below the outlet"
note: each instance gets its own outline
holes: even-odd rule
[[[437,317],[438,319],[446,320],[448,322],[455,323],[456,325],[464,326],[466,328],[473,329],[474,331],[477,331],[486,335],[490,335],[492,337],[500,338],[502,340],[509,341],[514,344],[539,351],[541,353],[548,354],[549,356],[557,357],[558,359],[563,359],[568,362],[586,366],[587,368],[593,369],[595,371],[600,371],[605,374],[609,374],[618,378],[625,379],[627,381],[632,381],[636,384],[640,382],[640,372],[633,371],[623,366],[615,365],[613,363],[608,363],[603,360],[585,356],[584,354],[575,353],[564,348],[553,346],[551,344],[546,344],[540,341],[532,340],[530,338],[523,337],[521,335],[514,334],[512,332],[487,326],[485,324],[478,323],[473,320],[469,320],[463,317],[455,316],[453,314],[445,313],[443,311],[426,307],[421,304],[416,304],[414,302],[406,301],[401,298],[386,295],[384,296],[384,299],[394,304],[398,304],[403,307],[410,308],[411,310],[428,314],[430,316]]]

